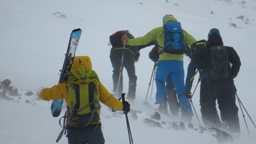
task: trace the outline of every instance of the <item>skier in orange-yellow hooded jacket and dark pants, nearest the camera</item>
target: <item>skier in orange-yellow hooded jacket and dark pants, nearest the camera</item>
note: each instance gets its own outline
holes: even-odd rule
[[[92,62],[87,56],[74,57],[73,65],[71,71],[77,70],[78,68],[88,68],[92,70]],[[93,71],[93,70],[92,70]],[[95,73],[95,71],[94,71]],[[45,88],[40,92],[40,98],[49,101],[54,99],[65,99],[68,104],[67,92],[66,92],[67,82],[63,82],[52,86],[51,88]],[[102,83],[99,84],[99,101],[107,105],[111,109],[117,109],[119,111],[123,110],[124,113],[130,111],[130,104],[126,101],[120,102],[118,99],[108,92],[108,90],[103,86]],[[68,144],[75,143],[105,143],[102,131],[101,131],[101,121],[93,121],[86,127],[75,126],[70,124],[67,128]]]

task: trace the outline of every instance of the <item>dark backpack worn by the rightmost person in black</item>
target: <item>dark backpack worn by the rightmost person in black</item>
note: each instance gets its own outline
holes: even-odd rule
[[[211,78],[223,80],[229,77],[229,60],[225,46],[212,46],[211,51]]]

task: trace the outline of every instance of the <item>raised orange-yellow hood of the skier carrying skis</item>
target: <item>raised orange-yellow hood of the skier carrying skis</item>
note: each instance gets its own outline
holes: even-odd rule
[[[71,71],[77,70],[78,68],[88,68],[89,70],[92,70],[92,62],[90,61],[90,57],[88,56],[74,57]]]

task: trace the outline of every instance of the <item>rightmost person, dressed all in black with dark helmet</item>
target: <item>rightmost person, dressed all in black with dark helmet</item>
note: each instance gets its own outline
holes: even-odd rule
[[[192,63],[198,68],[207,73],[207,95],[205,111],[207,118],[211,124],[221,127],[218,122],[218,114],[216,111],[216,99],[218,108],[220,109],[221,120],[223,126],[229,126],[231,133],[240,133],[240,125],[238,118],[238,107],[236,107],[236,87],[233,79],[238,75],[241,61],[235,49],[230,46],[225,46],[227,51],[227,60],[232,64],[228,65],[228,77],[226,79],[216,80],[211,77],[211,52],[212,46],[223,46],[223,41],[218,29],[211,29],[208,33],[207,46],[199,49],[192,55]],[[202,64],[202,61],[204,64]]]

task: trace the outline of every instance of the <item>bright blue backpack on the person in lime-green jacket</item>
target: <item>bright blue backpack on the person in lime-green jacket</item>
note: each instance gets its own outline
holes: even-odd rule
[[[180,22],[168,21],[166,24],[164,24],[164,32],[161,34],[161,36],[164,33],[165,40],[162,53],[167,52],[170,54],[183,54],[186,51],[183,30]]]

